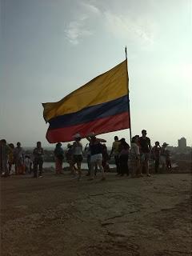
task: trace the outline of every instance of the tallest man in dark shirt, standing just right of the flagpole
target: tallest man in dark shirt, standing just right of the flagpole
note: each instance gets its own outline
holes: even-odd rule
[[[150,138],[146,137],[146,130],[142,130],[142,137],[139,138],[141,163],[146,168],[146,175],[150,176],[149,173],[149,159],[150,159]]]

